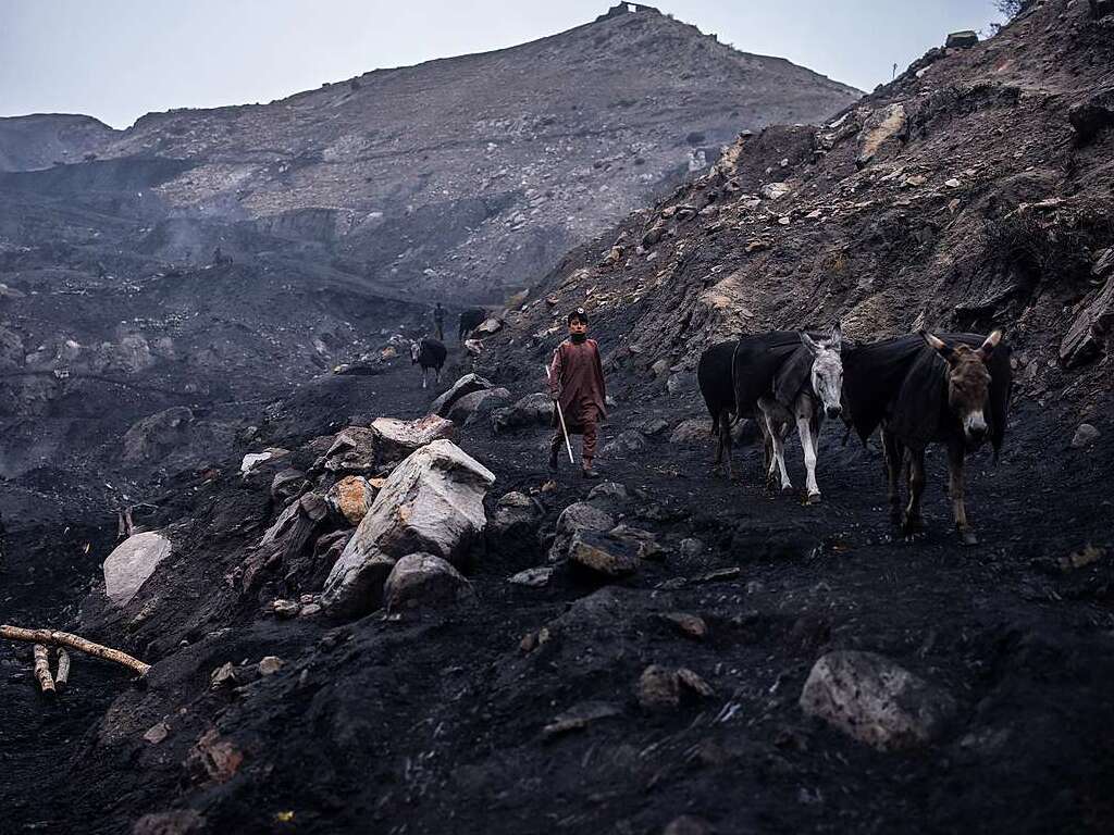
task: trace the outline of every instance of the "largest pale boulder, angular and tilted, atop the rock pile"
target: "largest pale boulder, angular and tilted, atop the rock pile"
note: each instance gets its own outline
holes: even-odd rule
[[[325,581],[332,615],[355,616],[382,602],[394,562],[430,553],[460,562],[483,533],[483,497],[495,474],[455,443],[439,440],[399,464]]]

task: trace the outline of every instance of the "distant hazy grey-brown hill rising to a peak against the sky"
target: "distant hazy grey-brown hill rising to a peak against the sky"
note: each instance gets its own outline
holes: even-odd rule
[[[622,3],[510,49],[268,105],[152,114],[95,150],[187,161],[152,184],[179,234],[180,218],[248,222],[325,244],[358,275],[498,301],[663,184],[706,168],[739,130],[812,121],[858,96]],[[21,159],[3,137],[0,159]],[[26,167],[59,158],[43,153]],[[168,253],[207,258],[209,236],[194,237],[206,246]]]

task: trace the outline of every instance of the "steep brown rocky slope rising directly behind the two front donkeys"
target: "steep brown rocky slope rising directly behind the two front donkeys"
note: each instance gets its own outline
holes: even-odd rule
[[[663,383],[745,331],[998,325],[1026,395],[1066,390],[1061,403],[1093,410],[1114,315],[1112,33],[1085,3],[1038,3],[819,127],[742,137],[567,257],[506,355],[546,354],[577,304],[610,336],[614,367]]]

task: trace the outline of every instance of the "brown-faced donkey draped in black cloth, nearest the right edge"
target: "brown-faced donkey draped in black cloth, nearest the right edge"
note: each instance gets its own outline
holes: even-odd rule
[[[1001,331],[989,336],[925,331],[852,348],[844,357],[849,423],[866,440],[881,429],[890,514],[908,536],[924,529],[925,449],[948,450],[956,530],[978,543],[964,502],[967,453],[987,440],[995,459],[1009,418],[1013,374]],[[899,481],[908,464],[909,502],[902,510]]]

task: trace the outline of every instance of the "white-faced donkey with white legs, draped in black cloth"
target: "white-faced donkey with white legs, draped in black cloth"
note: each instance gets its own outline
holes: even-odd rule
[[[785,470],[784,441],[795,423],[804,451],[808,502],[820,501],[817,451],[824,416],[842,412],[843,336],[837,324],[827,337],[803,331],[746,336],[735,345],[731,377],[735,416],[754,418],[762,432],[766,481],[774,469],[781,490],[793,489]]]

